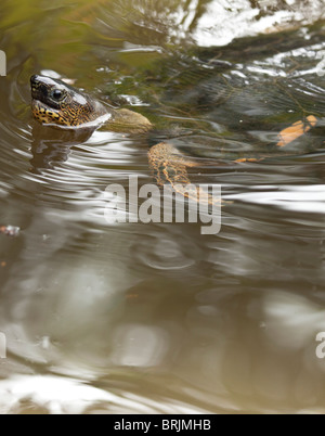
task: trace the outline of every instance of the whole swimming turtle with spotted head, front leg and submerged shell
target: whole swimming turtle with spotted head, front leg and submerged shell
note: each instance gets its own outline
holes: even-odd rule
[[[297,59],[292,60],[292,51],[288,51],[292,47],[286,42],[290,40],[282,38],[280,42],[271,41],[280,48],[275,57],[270,56],[270,40],[261,38],[259,47],[255,39],[255,43],[244,41],[245,51],[243,42],[230,47],[225,61],[203,52],[199,57],[190,55],[186,65],[182,56],[183,72],[165,79],[165,101],[174,111],[181,107],[182,114],[186,108],[187,120],[193,107],[203,116],[196,130],[191,127],[190,134],[186,131],[186,134],[170,136],[151,145],[148,163],[158,185],[169,183],[177,192],[191,197],[191,191],[188,194],[186,190],[191,184],[191,167],[261,163],[275,152],[283,156],[301,154],[323,144],[325,102],[321,77],[315,84],[301,79],[306,73],[297,74]],[[295,47],[299,42],[308,43],[306,39],[292,41]],[[234,63],[240,53],[243,62]],[[278,60],[281,67],[274,73],[271,66]],[[304,62],[302,59],[301,68]],[[309,72],[309,65],[306,66]],[[155,129],[146,116],[133,110],[107,106],[63,80],[34,75],[30,85],[32,114],[43,125],[84,129],[104,124],[108,130],[134,134]],[[212,126],[208,134],[207,130],[202,134],[203,123]],[[197,198],[197,192],[192,193]]]

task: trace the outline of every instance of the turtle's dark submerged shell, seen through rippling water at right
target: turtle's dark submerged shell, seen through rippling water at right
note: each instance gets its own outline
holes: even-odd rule
[[[161,65],[158,77],[161,115],[168,106],[168,118],[173,113],[173,121],[187,127],[173,138],[187,154],[258,158],[323,145],[322,27],[179,54]]]

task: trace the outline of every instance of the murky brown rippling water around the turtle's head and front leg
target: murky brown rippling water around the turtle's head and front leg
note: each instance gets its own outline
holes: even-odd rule
[[[0,234],[2,413],[324,413],[325,11],[276,3],[2,0],[0,225],[22,229]],[[187,129],[216,159],[194,177],[222,185],[221,232],[109,226],[105,188],[153,182],[147,139],[44,131],[44,70]],[[288,156],[220,166],[203,146],[251,153],[307,115]]]

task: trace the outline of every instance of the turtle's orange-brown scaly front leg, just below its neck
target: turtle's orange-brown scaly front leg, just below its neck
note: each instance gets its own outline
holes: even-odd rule
[[[157,184],[170,184],[172,189],[188,200],[204,202],[209,205],[220,204],[220,198],[193,184],[187,174],[187,167],[197,167],[199,164],[186,158],[172,144],[160,142],[152,146],[148,152],[148,162]]]

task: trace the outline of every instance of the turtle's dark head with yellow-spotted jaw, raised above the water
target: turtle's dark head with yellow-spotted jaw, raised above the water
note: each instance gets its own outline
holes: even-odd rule
[[[31,110],[42,124],[75,127],[95,120],[106,107],[62,80],[32,76]]]

